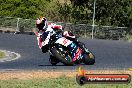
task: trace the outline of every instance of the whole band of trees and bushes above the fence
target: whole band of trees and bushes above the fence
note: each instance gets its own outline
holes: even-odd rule
[[[0,0],[0,16],[92,24],[94,0]],[[131,0],[96,0],[95,24],[132,27]]]

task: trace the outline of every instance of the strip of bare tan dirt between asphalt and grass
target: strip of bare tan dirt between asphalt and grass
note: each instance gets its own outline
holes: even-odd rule
[[[88,70],[87,74],[132,74],[129,70]],[[75,77],[78,71],[0,71],[0,80],[46,79],[60,76]]]

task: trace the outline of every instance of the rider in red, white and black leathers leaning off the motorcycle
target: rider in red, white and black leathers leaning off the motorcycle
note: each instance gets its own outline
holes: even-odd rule
[[[78,46],[80,46],[82,48],[83,51],[86,51],[84,44],[82,44],[81,42],[79,42],[75,35],[73,35],[70,31],[64,31],[62,30],[62,26],[61,25],[56,25],[54,23],[49,23],[47,21],[47,19],[45,17],[40,17],[37,18],[36,20],[36,36],[41,35],[40,37],[38,37],[38,45],[39,48],[42,49],[42,52],[47,52],[48,49],[46,49],[46,47],[42,47],[42,41],[45,41],[45,38],[48,34],[48,32],[46,31],[48,29],[48,27],[51,27],[54,30],[60,31],[60,33],[62,33],[62,36],[72,40],[73,42],[75,42]],[[47,45],[48,46],[48,45]]]

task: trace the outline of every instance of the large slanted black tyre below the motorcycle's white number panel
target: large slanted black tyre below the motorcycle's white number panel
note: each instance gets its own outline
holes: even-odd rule
[[[62,62],[64,65],[67,65],[67,66],[72,66],[74,65],[73,61],[72,61],[72,58],[70,57],[69,54],[66,54],[66,53],[61,53],[60,50],[58,50],[56,47],[54,47],[52,50],[51,50],[52,54],[60,61]],[[65,50],[63,50],[63,52],[65,52]]]

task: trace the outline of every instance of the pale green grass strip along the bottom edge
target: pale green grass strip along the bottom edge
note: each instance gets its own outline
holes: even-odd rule
[[[129,84],[85,84],[80,86],[75,78],[65,76],[56,79],[5,80],[0,81],[0,88],[132,88]]]

